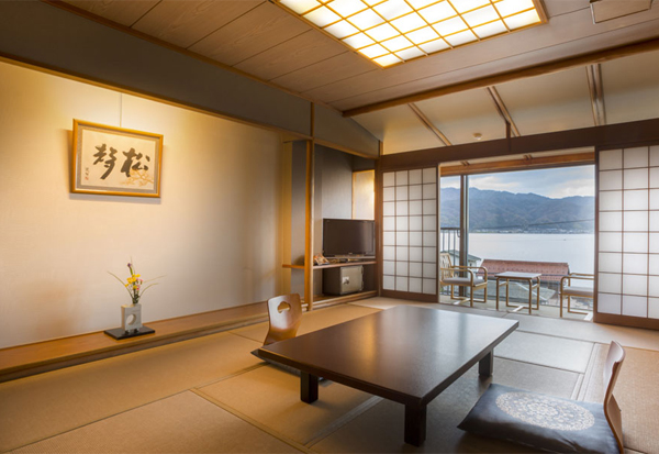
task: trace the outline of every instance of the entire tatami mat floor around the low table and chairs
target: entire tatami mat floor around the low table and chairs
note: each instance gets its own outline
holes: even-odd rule
[[[628,453],[659,453],[659,332],[591,322],[371,298],[304,314],[300,333],[395,304],[520,321],[494,351],[492,381],[579,400],[602,398],[611,340],[627,350],[616,385]],[[528,452],[458,423],[490,380],[476,367],[428,407],[427,440],[403,443],[403,407],[323,381],[300,401],[299,378],[249,352],[267,323],[0,384],[0,452]]]

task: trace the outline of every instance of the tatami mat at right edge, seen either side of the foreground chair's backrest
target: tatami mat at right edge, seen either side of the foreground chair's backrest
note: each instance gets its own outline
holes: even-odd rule
[[[659,453],[659,352],[625,347],[626,357],[621,368],[614,396],[623,411],[624,444],[643,453]],[[597,345],[592,376],[585,386],[583,399],[602,402],[604,398],[602,373],[608,345]]]

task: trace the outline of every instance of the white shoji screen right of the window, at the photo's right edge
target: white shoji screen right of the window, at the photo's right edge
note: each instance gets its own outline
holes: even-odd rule
[[[597,170],[595,321],[659,326],[659,146],[601,151]]]

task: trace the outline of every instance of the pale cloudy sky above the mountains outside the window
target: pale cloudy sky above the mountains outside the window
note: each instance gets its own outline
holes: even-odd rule
[[[459,187],[459,177],[442,178],[442,188]],[[469,177],[469,187],[514,193],[533,192],[552,199],[592,197],[595,195],[595,168],[590,165],[472,175]]]

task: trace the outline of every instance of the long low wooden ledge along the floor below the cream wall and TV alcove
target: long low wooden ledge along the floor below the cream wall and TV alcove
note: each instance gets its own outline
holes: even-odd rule
[[[364,291],[343,297],[319,297],[314,309],[377,296]],[[116,341],[102,331],[0,350],[0,383],[43,374],[92,361],[124,355],[188,339],[200,337],[268,320],[267,302],[255,302],[146,323],[154,334]]]

